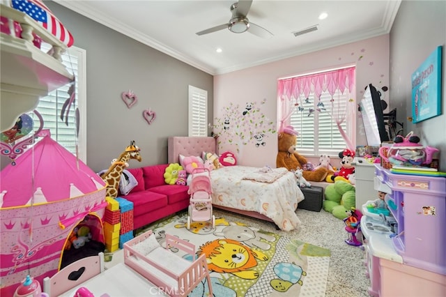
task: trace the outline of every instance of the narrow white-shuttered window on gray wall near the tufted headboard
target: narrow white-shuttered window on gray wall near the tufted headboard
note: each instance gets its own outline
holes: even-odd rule
[[[189,136],[208,136],[208,91],[189,86]]]

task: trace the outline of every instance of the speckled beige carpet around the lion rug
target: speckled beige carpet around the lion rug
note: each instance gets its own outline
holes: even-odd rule
[[[369,278],[365,276],[362,248],[347,245],[344,240],[347,233],[343,221],[334,218],[331,213],[305,211],[298,208],[298,218],[302,227],[290,232],[276,230],[274,224],[263,222],[243,215],[214,208],[214,214],[233,222],[243,222],[251,227],[270,231],[283,236],[297,238],[331,251],[328,270],[326,297],[369,297],[367,289]]]

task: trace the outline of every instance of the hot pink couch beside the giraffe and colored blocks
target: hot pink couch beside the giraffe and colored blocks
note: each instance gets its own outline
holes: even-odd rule
[[[133,229],[144,227],[189,206],[187,185],[167,185],[164,182],[164,172],[168,166],[164,164],[128,169],[137,179],[138,185],[128,195],[121,197],[133,202]]]

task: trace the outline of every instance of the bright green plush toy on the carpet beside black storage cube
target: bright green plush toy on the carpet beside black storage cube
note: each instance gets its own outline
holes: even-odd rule
[[[346,181],[335,181],[324,190],[325,200],[322,202],[324,211],[332,213],[334,217],[344,220],[346,211],[350,211],[356,204],[355,186]]]

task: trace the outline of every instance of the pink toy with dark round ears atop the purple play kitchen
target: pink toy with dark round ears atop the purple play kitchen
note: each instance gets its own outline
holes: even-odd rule
[[[413,135],[413,131],[410,131],[406,137],[397,135],[390,148],[385,146],[379,148],[379,155],[392,165],[428,166],[432,162],[433,153],[436,153],[438,148],[424,147],[419,142],[420,137]]]

